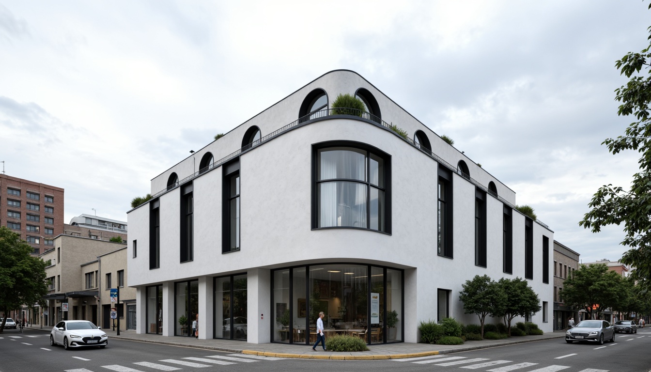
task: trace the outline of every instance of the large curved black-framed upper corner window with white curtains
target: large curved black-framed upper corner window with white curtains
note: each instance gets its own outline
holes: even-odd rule
[[[360,143],[314,148],[314,228],[356,227],[391,233],[391,158]]]

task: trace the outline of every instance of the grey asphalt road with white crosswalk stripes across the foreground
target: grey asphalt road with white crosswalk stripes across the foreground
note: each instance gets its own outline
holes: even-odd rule
[[[0,334],[0,372],[155,371],[455,371],[648,372],[651,328],[618,334],[614,343],[567,344],[564,339],[522,343],[407,360],[301,360],[244,356],[109,339],[106,349],[65,351],[49,346],[47,332]]]

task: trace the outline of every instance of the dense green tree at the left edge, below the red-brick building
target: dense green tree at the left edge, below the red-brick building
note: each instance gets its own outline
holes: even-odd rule
[[[46,263],[31,255],[33,251],[20,234],[0,227],[0,312],[5,315],[0,333],[5,329],[10,310],[42,304],[43,296],[48,294]]]

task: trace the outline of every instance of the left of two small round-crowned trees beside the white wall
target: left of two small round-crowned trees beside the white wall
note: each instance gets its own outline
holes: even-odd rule
[[[488,275],[466,280],[459,293],[466,314],[477,314],[484,337],[484,321],[488,315],[503,314],[506,308],[506,294],[502,287]],[[499,316],[499,315],[498,315]]]

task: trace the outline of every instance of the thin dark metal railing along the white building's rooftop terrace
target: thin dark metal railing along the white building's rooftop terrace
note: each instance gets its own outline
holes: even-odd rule
[[[242,149],[239,149],[239,150],[236,150],[235,152],[232,152],[231,154],[217,160],[216,162],[208,165],[207,167],[204,167],[203,169],[199,169],[198,172],[195,172],[192,175],[189,175],[188,177],[176,182],[176,184],[167,186],[163,190],[161,190],[161,191],[159,191],[157,193],[154,193],[154,195],[152,195],[152,199],[155,199],[156,197],[159,197],[160,195],[163,195],[163,193],[166,193],[169,190],[172,190],[173,188],[175,188],[178,185],[182,185],[182,184],[188,182],[189,180],[194,179],[195,177],[201,175],[202,173],[205,173],[206,171],[209,171],[210,169],[213,169],[215,167],[219,167],[220,165],[222,165],[222,164],[228,162],[229,160],[231,160],[232,158],[235,158],[236,156],[242,154],[242,152],[245,152],[246,150],[249,150],[249,149],[251,149],[253,147],[256,147],[257,145],[260,145],[260,143],[269,141],[270,139],[273,139],[274,137],[277,137],[277,136],[283,134],[284,132],[287,132],[288,130],[291,130],[292,128],[295,128],[296,126],[307,124],[308,122],[311,122],[311,121],[314,121],[314,120],[324,119],[326,117],[332,117],[332,116],[343,116],[343,117],[346,117],[346,119],[349,119],[349,118],[360,119],[361,118],[361,119],[365,119],[365,121],[374,122],[375,124],[383,126],[387,130],[393,131],[393,128],[392,128],[393,125],[383,121],[380,117],[378,117],[376,115],[368,113],[367,111],[362,111],[362,110],[359,110],[359,109],[351,109],[351,108],[335,108],[335,109],[324,109],[324,110],[321,110],[321,111],[316,111],[314,113],[310,113],[309,115],[305,115],[304,117],[299,117],[296,121],[292,121],[289,124],[287,124],[286,126],[283,126],[282,128],[279,128],[279,129],[271,132],[270,134],[258,139],[257,141],[254,141],[253,143],[249,143],[245,147],[242,147]],[[396,136],[404,139],[404,141],[406,141],[407,143],[409,143],[410,145],[412,145],[416,149],[421,150],[421,152],[423,152],[424,154],[427,154],[427,156],[430,156],[430,158],[436,160],[437,163],[445,165],[445,167],[447,167],[451,171],[454,171],[454,172],[458,173],[460,176],[464,177],[464,179],[469,180],[470,182],[475,184],[475,186],[477,186],[481,190],[484,190],[484,192],[490,193],[490,195],[493,195],[493,197],[496,197],[502,203],[508,205],[509,207],[511,207],[513,209],[516,209],[516,206],[512,205],[509,201],[507,201],[503,197],[497,195],[497,193],[493,192],[492,190],[488,190],[488,187],[480,184],[479,182],[477,182],[477,180],[475,180],[472,177],[470,177],[469,175],[463,173],[457,167],[452,166],[452,164],[446,162],[445,160],[440,158],[437,154],[434,154],[434,152],[432,152],[432,150],[426,149],[425,147],[422,147],[418,143],[415,143],[413,141],[413,139],[411,139],[409,137],[403,137],[403,136],[400,136],[400,134],[398,134],[397,132],[395,132],[395,133],[396,133]],[[542,225],[542,226],[546,227],[547,229],[549,229],[549,226],[547,226],[545,223],[542,223],[540,220],[536,220],[536,222],[540,223],[540,225]]]

